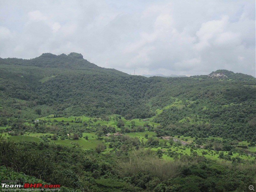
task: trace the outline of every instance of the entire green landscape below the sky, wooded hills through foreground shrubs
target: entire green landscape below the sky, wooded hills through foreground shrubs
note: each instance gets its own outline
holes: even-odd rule
[[[213,73],[227,77],[133,76],[74,52],[0,58],[2,180],[33,176],[61,191],[245,190],[255,151],[237,145],[255,146],[255,78]]]

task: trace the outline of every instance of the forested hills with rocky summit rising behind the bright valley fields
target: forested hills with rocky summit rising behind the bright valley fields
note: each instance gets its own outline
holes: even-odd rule
[[[255,141],[255,78],[213,73],[219,72],[228,78],[132,76],[98,67],[79,53],[0,59],[0,118],[153,117],[164,127],[161,134]]]

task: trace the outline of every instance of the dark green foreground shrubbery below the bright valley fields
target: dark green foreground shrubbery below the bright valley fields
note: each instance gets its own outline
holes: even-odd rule
[[[197,155],[165,161],[150,149],[132,150],[133,140],[126,141],[126,152],[120,147],[102,154],[49,142],[14,143],[1,137],[0,164],[82,191],[243,191],[255,177],[253,162],[221,163]]]

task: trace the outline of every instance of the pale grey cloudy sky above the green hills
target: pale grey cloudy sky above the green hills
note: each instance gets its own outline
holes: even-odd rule
[[[1,0],[0,57],[45,52],[136,75],[255,76],[255,0]]]

